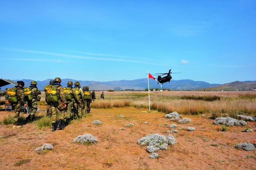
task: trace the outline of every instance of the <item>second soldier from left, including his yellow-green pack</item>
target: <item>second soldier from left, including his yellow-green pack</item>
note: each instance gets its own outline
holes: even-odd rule
[[[31,86],[29,86],[30,88],[25,88],[24,90],[26,101],[28,102],[28,106],[30,107],[30,114],[28,115],[28,117],[26,117],[27,121],[34,121],[35,113],[37,111],[37,101],[40,101],[41,99],[40,96],[38,96],[41,94],[41,92],[36,87],[36,84],[36,81],[32,81],[30,83]]]

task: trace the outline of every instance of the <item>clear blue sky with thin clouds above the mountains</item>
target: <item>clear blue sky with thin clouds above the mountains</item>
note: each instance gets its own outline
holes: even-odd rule
[[[0,1],[1,77],[256,80],[256,1]]]

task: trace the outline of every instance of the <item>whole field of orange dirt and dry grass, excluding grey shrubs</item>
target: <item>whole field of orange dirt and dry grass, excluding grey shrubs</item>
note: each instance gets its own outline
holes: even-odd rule
[[[4,125],[13,112],[2,109],[0,169],[256,170],[255,150],[234,147],[240,142],[256,141],[256,122],[218,131],[221,125],[214,125],[212,119],[224,113],[234,118],[237,114],[255,116],[254,92],[151,92],[151,113],[147,112],[147,92],[104,92],[105,100],[100,99],[100,93],[96,92],[92,113],[55,132],[51,131],[49,118],[44,116],[44,98],[40,101],[37,120],[20,129]],[[181,125],[164,118],[173,111],[192,121]],[[92,124],[94,120],[100,120],[102,125]],[[134,127],[125,127],[128,123],[134,123]],[[176,145],[168,145],[168,149],[158,151],[157,159],[150,159],[146,146],[137,144],[138,139],[151,133],[167,136],[173,123],[178,125],[174,128],[178,133],[171,133]],[[125,130],[120,130],[122,127]],[[196,131],[181,130],[181,127],[194,127]],[[253,132],[242,132],[246,128]],[[97,137],[98,142],[73,143],[78,135],[85,133]],[[53,145],[54,149],[34,151],[44,143]]]

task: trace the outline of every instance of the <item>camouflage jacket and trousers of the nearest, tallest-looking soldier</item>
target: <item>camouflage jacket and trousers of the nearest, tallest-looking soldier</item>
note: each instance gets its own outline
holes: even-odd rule
[[[56,123],[57,110],[60,111],[60,119],[63,120],[65,117],[65,108],[62,103],[66,103],[66,95],[63,92],[63,88],[60,84],[55,83],[52,87],[57,87],[58,105],[50,104],[52,110],[52,123]]]

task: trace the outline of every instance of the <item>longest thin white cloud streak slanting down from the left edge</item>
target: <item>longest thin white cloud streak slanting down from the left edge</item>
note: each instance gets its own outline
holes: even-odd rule
[[[115,58],[106,58],[106,57],[89,57],[89,56],[81,56],[81,55],[68,55],[62,53],[52,53],[45,51],[35,51],[35,50],[25,50],[25,49],[1,49],[5,51],[15,51],[22,53],[32,53],[32,54],[41,54],[41,55],[50,55],[56,57],[66,57],[66,58],[75,58],[75,59],[90,59],[90,60],[99,60],[99,61],[118,61],[118,62],[130,62],[130,63],[141,63],[141,64],[150,64],[150,65],[165,65],[164,63],[148,63],[140,60],[130,60],[130,59],[115,59]]]

